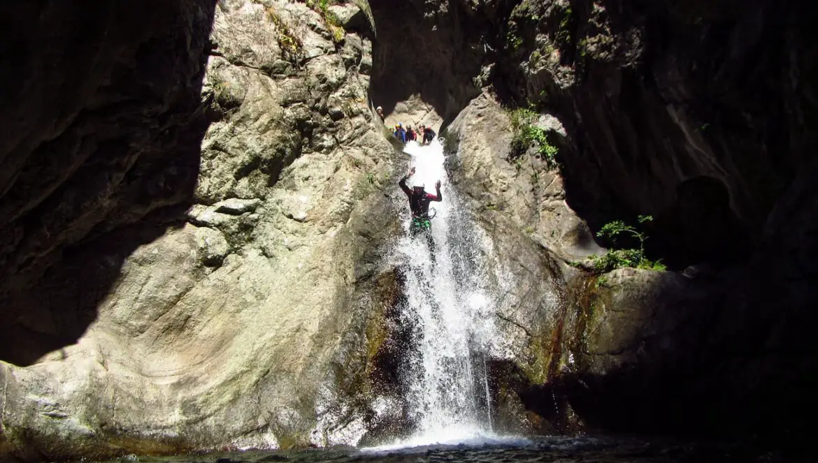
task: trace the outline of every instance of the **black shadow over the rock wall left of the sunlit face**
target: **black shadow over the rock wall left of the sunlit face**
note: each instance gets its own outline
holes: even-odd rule
[[[78,341],[125,259],[184,225],[216,2],[22,3],[0,7],[16,62],[0,81],[17,90],[0,122],[26,130],[0,146],[0,234],[16,236],[0,248],[0,360],[27,366]]]

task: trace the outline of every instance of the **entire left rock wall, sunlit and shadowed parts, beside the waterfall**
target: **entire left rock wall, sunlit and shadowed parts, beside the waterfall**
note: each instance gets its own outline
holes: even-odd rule
[[[54,24],[4,76],[0,454],[326,444],[345,415],[317,407],[367,361],[395,217],[369,39],[303,4],[160,3],[4,11]]]

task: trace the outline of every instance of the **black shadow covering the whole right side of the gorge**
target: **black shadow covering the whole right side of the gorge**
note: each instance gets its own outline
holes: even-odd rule
[[[814,55],[815,9],[710,2],[668,12],[661,2],[602,3],[613,30],[645,24],[645,54],[630,69],[583,63],[575,87],[546,89],[553,90],[546,109],[569,135],[557,159],[566,201],[594,231],[653,215],[643,229],[649,257],[673,270],[693,266],[676,278],[688,280],[681,286],[644,283],[659,296],[641,301],[654,312],[636,330],[626,364],[521,385],[521,398],[563,426],[573,414],[604,432],[760,435],[804,445],[799,436],[818,411],[811,392],[818,195],[806,186],[818,171],[815,136],[786,108],[814,120],[815,105],[793,97],[779,76],[788,69],[781,56],[800,69]],[[591,2],[571,4],[582,16]],[[501,59],[504,79],[495,83],[501,99],[524,105],[517,64]],[[804,90],[810,77],[790,82]],[[802,185],[793,182],[798,176]]]

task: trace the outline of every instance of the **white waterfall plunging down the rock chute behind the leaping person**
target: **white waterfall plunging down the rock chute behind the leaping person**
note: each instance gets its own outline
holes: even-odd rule
[[[407,144],[416,173],[411,185],[434,193],[442,182],[442,203],[432,203],[434,260],[422,237],[402,238],[396,252],[407,262],[407,303],[402,316],[416,327],[416,349],[404,372],[410,417],[417,432],[404,445],[468,442],[491,433],[485,356],[496,341],[484,260],[490,242],[474,225],[450,188],[443,146]],[[434,211],[433,211],[434,210]],[[408,207],[407,207],[408,217]]]

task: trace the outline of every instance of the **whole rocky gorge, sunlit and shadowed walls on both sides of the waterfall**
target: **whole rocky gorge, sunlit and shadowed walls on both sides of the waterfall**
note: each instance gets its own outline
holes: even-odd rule
[[[406,434],[375,105],[443,129],[490,243],[498,431],[791,442],[818,13],[785,3],[4,3],[0,458]],[[597,268],[639,216],[666,268]]]

